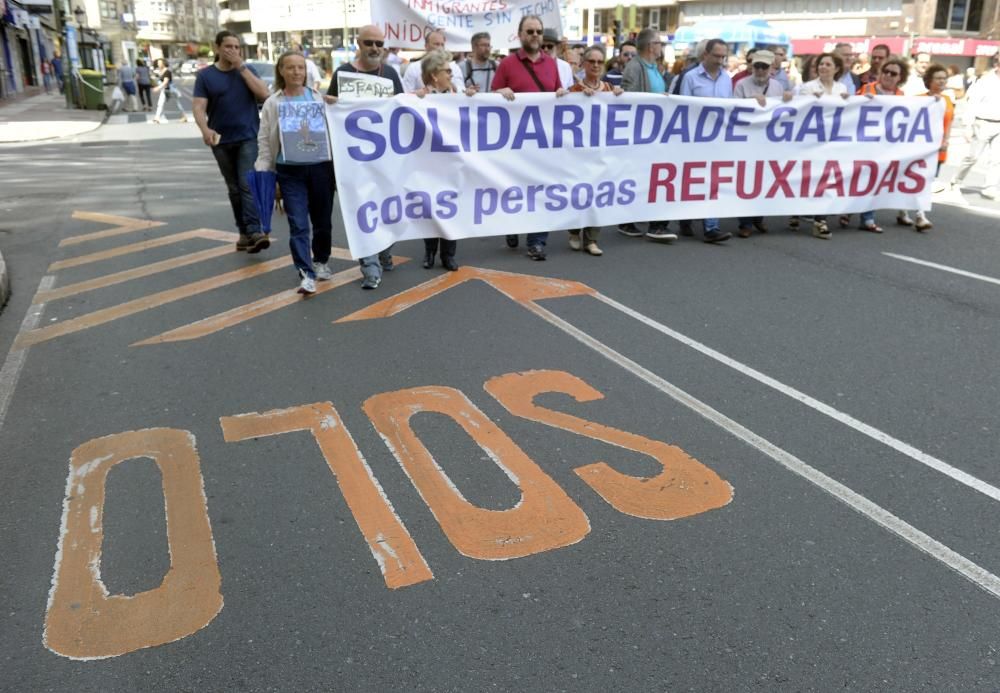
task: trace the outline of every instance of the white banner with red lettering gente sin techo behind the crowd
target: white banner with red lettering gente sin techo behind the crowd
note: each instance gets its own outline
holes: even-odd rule
[[[472,35],[488,32],[494,50],[520,48],[517,25],[535,14],[546,29],[561,33],[557,0],[371,0],[372,24],[385,32],[387,46],[423,48],[424,37],[440,29],[445,48],[467,51]]]

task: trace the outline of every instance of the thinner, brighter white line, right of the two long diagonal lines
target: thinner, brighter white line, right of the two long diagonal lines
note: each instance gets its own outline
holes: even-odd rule
[[[931,469],[940,472],[941,474],[944,474],[945,476],[950,477],[951,479],[954,479],[960,484],[964,484],[971,489],[979,491],[979,493],[982,493],[983,495],[988,496],[989,498],[992,498],[995,501],[1000,501],[1000,488],[997,488],[996,486],[993,486],[992,484],[989,484],[983,481],[982,479],[974,477],[967,472],[963,472],[961,469],[958,469],[957,467],[948,464],[944,460],[940,460],[937,457],[934,457],[933,455],[928,455],[926,452],[918,450],[909,443],[904,443],[898,438],[894,438],[885,431],[881,431],[875,428],[874,426],[870,426],[863,421],[855,419],[850,414],[845,414],[839,409],[834,409],[829,404],[820,402],[818,399],[810,397],[806,393],[796,390],[794,387],[785,385],[784,383],[779,382],[768,375],[764,375],[760,371],[751,368],[745,363],[741,363],[740,361],[732,359],[726,356],[725,354],[720,353],[715,349],[712,349],[711,347],[702,344],[701,342],[691,339],[690,337],[683,335],[680,332],[677,332],[676,330],[672,330],[666,325],[663,325],[662,323],[659,323],[656,320],[653,320],[652,318],[648,318],[642,313],[636,312],[631,308],[629,308],[628,306],[623,305],[612,298],[608,298],[604,294],[595,293],[594,297],[599,301],[603,301],[604,303],[608,304],[612,308],[615,308],[616,310],[625,313],[629,317],[635,318],[636,320],[652,327],[654,330],[665,334],[671,339],[676,339],[681,344],[689,346],[695,351],[701,352],[705,356],[708,356],[709,358],[714,359],[723,365],[729,366],[733,370],[738,371],[739,373],[742,373],[743,375],[749,378],[753,378],[757,382],[763,385],[767,385],[768,387],[777,390],[781,394],[791,397],[792,399],[801,402],[807,407],[815,409],[821,414],[829,416],[831,419],[834,419],[835,421],[838,421],[844,424],[845,426],[853,428],[858,433],[862,433],[868,436],[869,438],[876,440],[879,443],[882,443],[883,445],[887,445],[893,450],[906,455],[910,459],[913,459],[922,465],[930,467]]]

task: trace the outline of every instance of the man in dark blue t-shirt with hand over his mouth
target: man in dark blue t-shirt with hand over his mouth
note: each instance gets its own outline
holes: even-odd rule
[[[195,79],[194,121],[226,181],[229,204],[240,230],[236,249],[259,253],[271,242],[260,230],[247,172],[257,159],[257,102],[266,100],[270,92],[253,68],[244,64],[239,36],[220,31],[215,37],[215,55],[215,64]]]

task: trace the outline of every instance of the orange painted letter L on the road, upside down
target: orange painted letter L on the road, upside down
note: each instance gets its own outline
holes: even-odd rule
[[[292,431],[311,432],[382,570],[386,586],[399,589],[434,579],[333,404],[318,402],[263,414],[226,416],[219,423],[227,443]]]

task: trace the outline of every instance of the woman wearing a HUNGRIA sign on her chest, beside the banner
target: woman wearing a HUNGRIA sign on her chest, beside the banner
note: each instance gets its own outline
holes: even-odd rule
[[[391,68],[390,68],[391,69]],[[277,171],[288,215],[288,246],[299,273],[299,293],[316,293],[316,280],[332,276],[330,260],[333,215],[333,157],[324,101],[306,84],[305,56],[287,51],[274,70],[275,93],[260,111],[257,171]],[[312,221],[312,239],[309,222]]]

